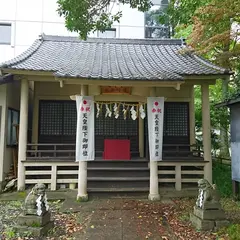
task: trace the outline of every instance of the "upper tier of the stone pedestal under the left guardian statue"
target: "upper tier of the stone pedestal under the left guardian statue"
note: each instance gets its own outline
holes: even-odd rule
[[[18,218],[18,224],[20,226],[42,227],[45,226],[48,222],[50,222],[50,219],[50,212],[46,212],[43,216],[21,215]]]

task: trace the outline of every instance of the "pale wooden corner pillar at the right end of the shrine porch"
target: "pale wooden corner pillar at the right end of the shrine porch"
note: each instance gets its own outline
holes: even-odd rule
[[[202,84],[201,90],[202,90],[203,151],[204,161],[207,162],[204,167],[204,178],[207,179],[209,183],[212,183],[211,121],[210,121],[208,84]]]

